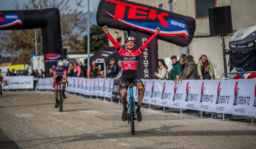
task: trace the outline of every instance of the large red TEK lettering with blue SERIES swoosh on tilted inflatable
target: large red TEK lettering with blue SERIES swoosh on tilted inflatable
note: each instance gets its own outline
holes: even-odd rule
[[[188,39],[188,27],[185,21],[169,18],[167,12],[157,12],[156,9],[149,9],[145,6],[128,4],[124,1],[106,0],[116,4],[114,15],[105,11],[114,20],[118,20],[128,26],[142,31],[154,33],[156,27],[161,28],[159,35],[182,36]],[[128,12],[126,12],[128,10]],[[127,14],[127,16],[125,15]]]

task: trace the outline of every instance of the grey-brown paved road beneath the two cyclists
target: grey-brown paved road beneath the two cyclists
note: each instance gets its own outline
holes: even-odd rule
[[[0,96],[0,148],[255,148],[256,125],[142,109],[129,133],[122,107],[68,94],[63,113],[53,92]]]

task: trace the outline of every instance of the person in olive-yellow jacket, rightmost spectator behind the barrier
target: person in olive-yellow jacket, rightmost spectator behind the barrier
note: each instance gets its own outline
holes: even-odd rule
[[[210,74],[213,76],[213,79],[215,79],[213,65],[207,59],[206,55],[201,55],[201,60],[199,59],[197,64],[197,71],[200,79],[212,79]]]

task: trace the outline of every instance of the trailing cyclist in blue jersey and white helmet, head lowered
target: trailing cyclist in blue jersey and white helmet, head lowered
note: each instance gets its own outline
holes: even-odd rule
[[[55,96],[55,108],[58,108],[58,82],[63,82],[63,99],[67,98],[65,96],[65,83],[67,82],[67,67],[65,67],[64,62],[59,60],[57,65],[53,69],[53,86],[54,86],[54,96]]]

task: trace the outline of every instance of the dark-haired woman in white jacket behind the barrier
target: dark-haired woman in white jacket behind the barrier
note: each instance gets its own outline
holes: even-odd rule
[[[168,67],[163,59],[157,60],[157,67],[159,72],[154,72],[154,76],[156,76],[158,79],[168,79]]]

